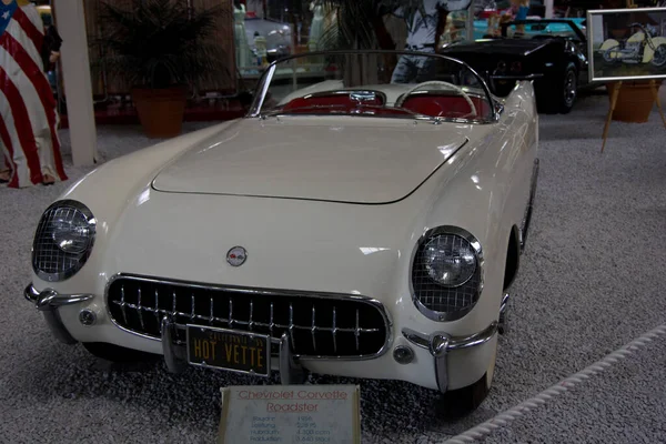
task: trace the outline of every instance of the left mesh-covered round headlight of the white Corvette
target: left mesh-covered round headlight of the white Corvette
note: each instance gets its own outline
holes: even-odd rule
[[[40,279],[64,281],[90,256],[97,221],[77,201],[59,201],[44,211],[32,244],[32,269]]]

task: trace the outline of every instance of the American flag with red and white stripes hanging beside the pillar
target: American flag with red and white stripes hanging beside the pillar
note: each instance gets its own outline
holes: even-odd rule
[[[0,144],[13,171],[11,188],[41,183],[43,174],[67,180],[56,99],[41,59],[43,38],[33,4],[0,1]]]

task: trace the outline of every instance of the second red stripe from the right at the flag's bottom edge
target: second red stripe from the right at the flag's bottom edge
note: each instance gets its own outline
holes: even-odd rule
[[[37,143],[30,125],[30,117],[23,98],[19,92],[16,84],[11,81],[7,71],[0,65],[0,91],[4,93],[13,114],[14,125],[17,129],[19,142],[21,143],[22,151],[26,153],[28,160],[28,168],[30,170],[30,181],[34,184],[42,182],[41,169],[39,165],[39,155],[37,152]],[[18,173],[18,172],[17,172]]]

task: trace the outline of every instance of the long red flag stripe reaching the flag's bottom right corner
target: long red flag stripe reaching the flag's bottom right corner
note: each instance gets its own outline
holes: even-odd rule
[[[28,52],[19,44],[19,42],[11,37],[9,33],[4,33],[0,38],[0,47],[16,60],[21,70],[26,73],[28,79],[32,82],[37,95],[41,100],[47,121],[49,123],[49,131],[51,133],[51,150],[53,151],[53,163],[56,172],[61,180],[67,180],[64,168],[62,165],[62,158],[60,155],[60,142],[58,140],[57,122],[56,122],[56,99],[51,92],[51,85],[49,80],[44,75],[40,67],[30,58]]]

